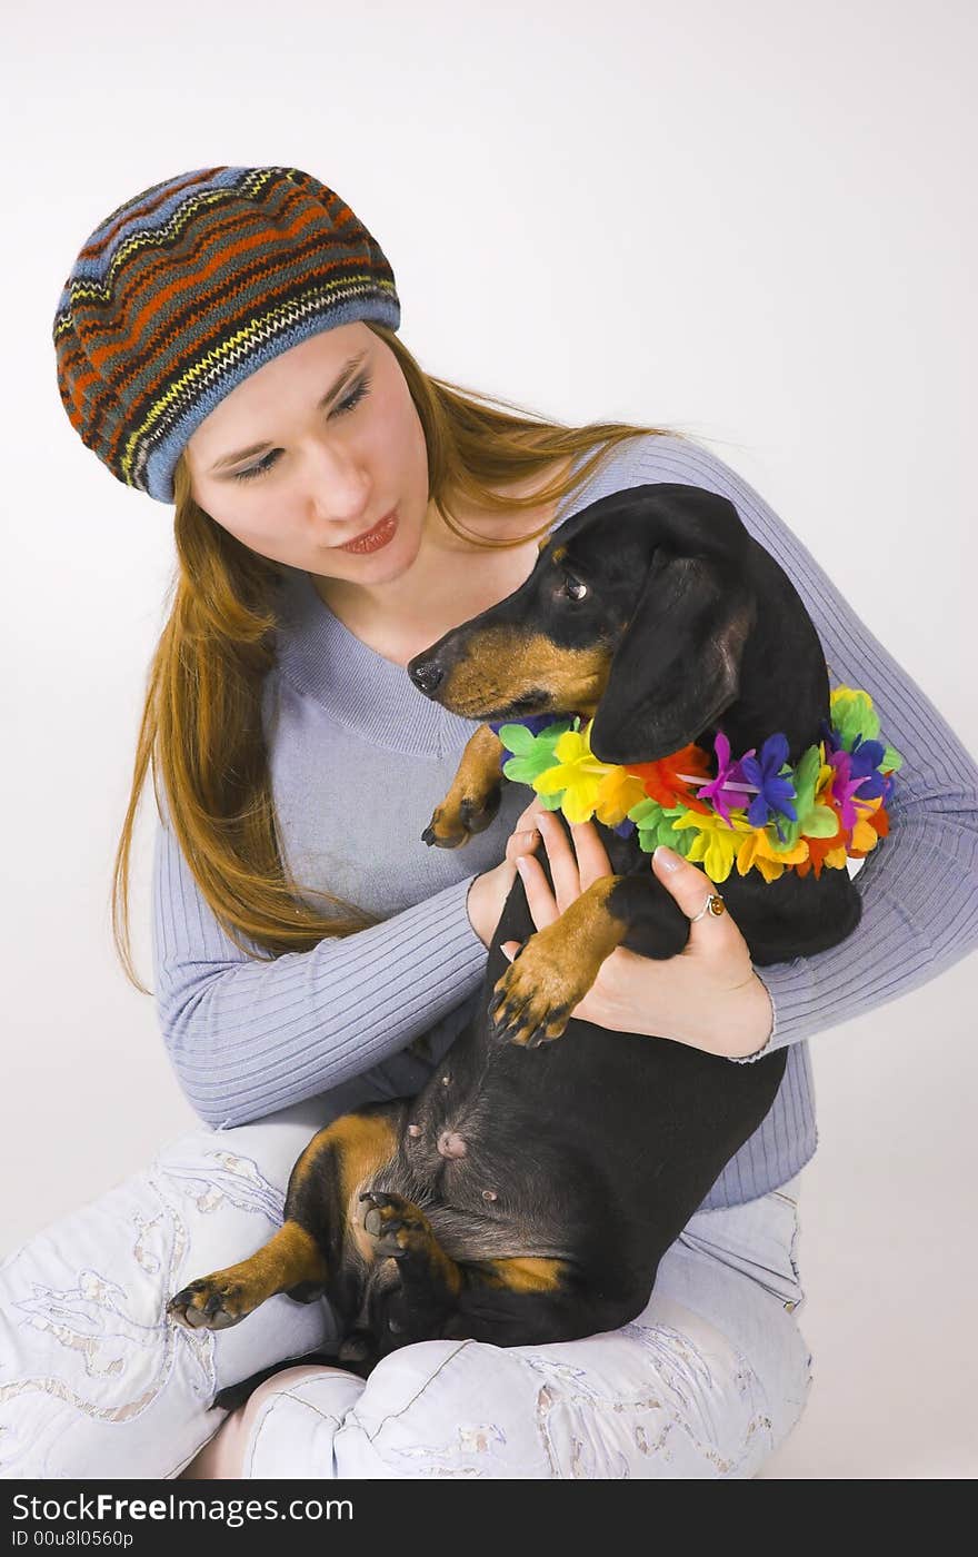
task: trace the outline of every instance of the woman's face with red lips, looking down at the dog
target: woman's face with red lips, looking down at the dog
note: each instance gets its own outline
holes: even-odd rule
[[[323,330],[258,367],[185,458],[194,501],[263,557],[372,585],[418,553],[424,431],[396,357],[365,324]],[[378,550],[345,550],[392,509]]]

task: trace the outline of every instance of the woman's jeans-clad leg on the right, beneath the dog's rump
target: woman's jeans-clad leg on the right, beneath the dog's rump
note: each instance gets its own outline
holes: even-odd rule
[[[773,1448],[760,1381],[697,1314],[670,1320],[543,1347],[420,1342],[365,1387],[345,1375],[345,1408],[334,1380],[306,1378],[260,1415],[247,1474],[754,1476]]]

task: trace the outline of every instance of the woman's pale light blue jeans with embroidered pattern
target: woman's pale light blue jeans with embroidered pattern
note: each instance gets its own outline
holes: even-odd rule
[[[225,1420],[218,1389],[336,1337],[325,1302],[274,1297],[216,1334],[165,1308],[258,1249],[313,1132],[379,1095],[358,1077],[253,1124],[191,1130],[5,1258],[0,1476],[176,1478]],[[810,1386],[799,1179],[697,1213],[623,1330],[541,1347],[431,1341],[365,1383],[339,1369],[269,1381],[241,1474],[754,1476]]]

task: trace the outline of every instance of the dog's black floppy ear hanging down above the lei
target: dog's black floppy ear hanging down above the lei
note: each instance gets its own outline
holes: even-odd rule
[[[735,699],[753,623],[743,584],[658,547],[594,715],[599,761],[650,763],[689,746]]]

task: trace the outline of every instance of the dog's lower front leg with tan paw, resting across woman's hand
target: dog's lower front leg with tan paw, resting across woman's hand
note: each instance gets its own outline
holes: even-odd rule
[[[496,1035],[524,1048],[558,1039],[605,958],[639,939],[634,950],[645,956],[673,958],[689,940],[689,919],[648,867],[592,881],[496,981],[488,1007]]]

